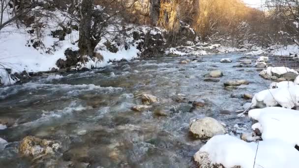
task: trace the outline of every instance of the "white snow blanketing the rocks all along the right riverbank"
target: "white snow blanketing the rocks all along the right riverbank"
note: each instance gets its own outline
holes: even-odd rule
[[[268,68],[269,72],[284,74],[289,68]],[[298,73],[297,73],[298,74]],[[223,165],[225,168],[298,168],[299,111],[291,110],[299,104],[299,76],[295,82],[283,81],[270,84],[270,88],[254,95],[252,107],[265,104],[264,109],[253,109],[248,117],[258,122],[252,125],[254,134],[246,142],[231,135],[211,138],[195,155],[201,168]],[[278,106],[281,107],[272,107]],[[262,134],[262,141],[256,135]],[[246,134],[247,135],[247,134]],[[256,139],[255,139],[255,137]]]

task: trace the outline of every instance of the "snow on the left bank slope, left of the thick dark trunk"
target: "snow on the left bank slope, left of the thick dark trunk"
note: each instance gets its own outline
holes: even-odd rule
[[[43,11],[45,12],[45,11]],[[49,11],[47,11],[49,12]],[[77,41],[79,32],[72,30],[70,34],[65,36],[65,40],[60,41],[59,38],[54,38],[51,31],[57,30],[58,23],[62,23],[64,17],[58,12],[50,12],[56,17],[41,18],[44,27],[40,29],[40,37],[44,47],[32,47],[31,41],[35,42],[37,39],[36,34],[28,33],[32,28],[26,28],[20,25],[21,28],[16,28],[15,24],[11,24],[3,29],[0,33],[0,64],[9,68],[13,73],[20,73],[22,71],[38,72],[49,71],[56,66],[58,59],[66,59],[64,51],[68,48],[78,50],[77,45],[72,42]],[[52,15],[51,15],[52,16]],[[4,18],[8,18],[4,14]],[[2,77],[3,84],[9,84],[9,77],[5,74],[4,70],[0,70],[0,77]],[[14,84],[13,81],[11,84]]]

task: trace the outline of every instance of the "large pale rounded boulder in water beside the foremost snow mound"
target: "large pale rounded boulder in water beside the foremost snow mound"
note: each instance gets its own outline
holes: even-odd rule
[[[226,130],[216,119],[206,117],[190,122],[189,132],[199,140],[208,140],[213,136],[225,134]]]

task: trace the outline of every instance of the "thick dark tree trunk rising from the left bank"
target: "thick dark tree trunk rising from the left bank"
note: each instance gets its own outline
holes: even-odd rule
[[[91,34],[91,15],[93,0],[82,0],[81,2],[81,20],[79,29],[79,54],[81,56],[92,56],[95,46]]]

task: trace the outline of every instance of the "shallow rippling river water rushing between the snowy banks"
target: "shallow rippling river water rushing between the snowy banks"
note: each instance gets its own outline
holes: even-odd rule
[[[224,57],[233,63],[220,63]],[[0,118],[10,118],[14,125],[0,130],[0,138],[9,142],[0,149],[0,167],[62,168],[69,163],[76,168],[88,164],[90,168],[196,167],[192,157],[204,142],[190,136],[189,122],[210,116],[230,128],[238,124],[250,130],[251,121],[235,113],[246,100],[231,98],[231,94],[254,94],[269,86],[253,64],[233,67],[240,57],[201,56],[199,62],[189,64],[179,64],[186,57],[118,62],[91,72],[38,77],[30,83],[1,87]],[[203,75],[213,69],[224,73],[220,82],[204,82]],[[250,84],[224,89],[225,81],[237,79]],[[141,104],[143,93],[155,95],[160,103],[149,111],[132,111],[131,107]],[[174,101],[178,94],[188,101],[205,101],[206,106],[190,112],[192,104]],[[158,116],[156,109],[170,113]],[[223,109],[232,113],[221,114]],[[230,134],[239,136],[241,130]],[[32,162],[17,149],[18,142],[29,135],[58,140],[62,147],[54,158]]]

